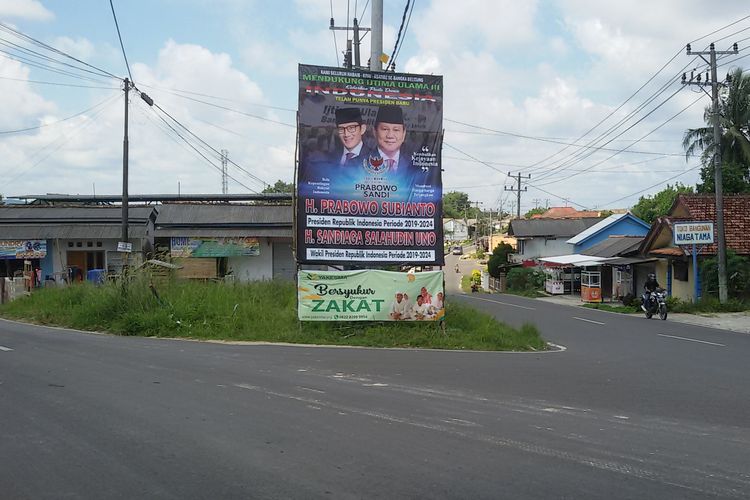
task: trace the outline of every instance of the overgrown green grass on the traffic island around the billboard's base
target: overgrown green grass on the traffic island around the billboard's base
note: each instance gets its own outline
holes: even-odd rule
[[[520,330],[468,306],[446,301],[446,332],[434,322],[299,322],[296,289],[288,282],[243,285],[135,279],[48,288],[0,306],[0,316],[120,335],[372,347],[542,350],[533,325]]]

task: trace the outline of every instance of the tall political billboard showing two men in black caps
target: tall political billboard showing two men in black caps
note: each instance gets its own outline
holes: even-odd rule
[[[299,68],[297,261],[443,265],[443,78]]]

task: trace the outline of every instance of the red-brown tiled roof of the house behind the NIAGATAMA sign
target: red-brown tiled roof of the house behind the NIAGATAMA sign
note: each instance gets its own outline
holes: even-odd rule
[[[716,223],[716,203],[713,195],[677,197],[669,219],[711,221]],[[750,195],[724,197],[724,235],[727,248],[740,255],[750,255]],[[716,244],[707,245],[701,253],[716,254]]]

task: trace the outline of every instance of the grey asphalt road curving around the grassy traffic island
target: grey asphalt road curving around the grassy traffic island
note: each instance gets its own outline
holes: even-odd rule
[[[750,337],[456,300],[566,350],[226,345],[0,321],[0,496],[750,496]]]

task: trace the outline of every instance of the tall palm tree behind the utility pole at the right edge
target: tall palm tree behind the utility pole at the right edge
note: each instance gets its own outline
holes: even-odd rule
[[[685,132],[682,146],[686,159],[700,151],[702,184],[698,192],[713,191],[714,167],[714,117],[711,106],[703,114],[707,126],[691,128]],[[719,142],[722,169],[726,172],[724,192],[750,191],[750,74],[743,75],[741,68],[729,75],[729,85],[722,87],[719,95]],[[728,181],[728,182],[727,182]]]

